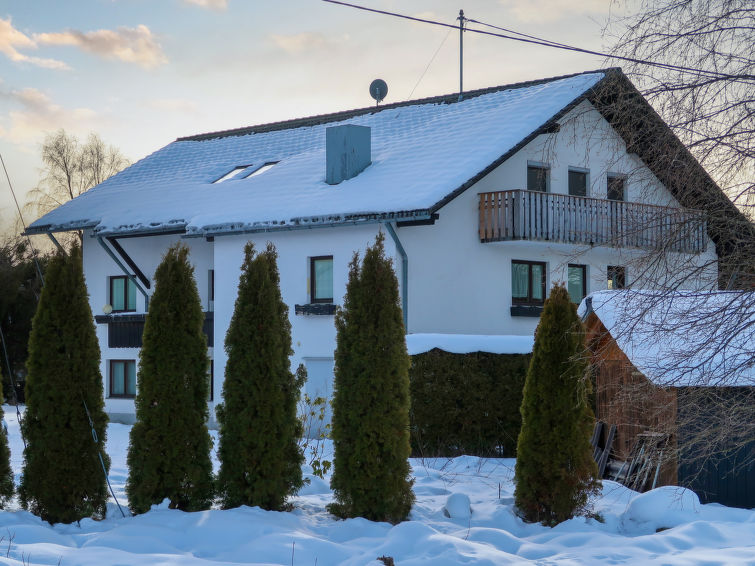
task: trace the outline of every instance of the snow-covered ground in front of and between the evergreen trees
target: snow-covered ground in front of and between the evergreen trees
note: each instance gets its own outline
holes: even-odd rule
[[[23,446],[14,409],[4,409],[18,481]],[[121,503],[128,433],[125,425],[108,429],[110,479]],[[289,513],[183,513],[160,505],[123,518],[111,502],[104,521],[50,526],[11,505],[0,511],[0,564],[382,566],[376,558],[390,556],[396,566],[755,565],[755,510],[700,505],[676,488],[639,495],[604,482],[594,502],[604,522],[577,518],[551,529],[514,514],[513,466],[510,459],[468,456],[412,460],[417,502],[410,520],[395,526],[334,519],[325,510],[328,482],[311,474]]]

